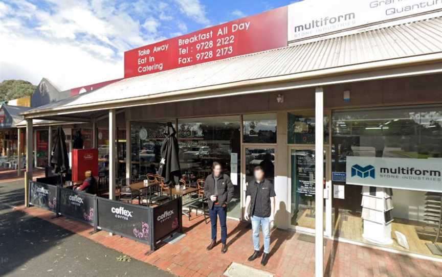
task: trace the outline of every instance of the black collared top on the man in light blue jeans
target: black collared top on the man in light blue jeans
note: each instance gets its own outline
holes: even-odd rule
[[[271,181],[264,179],[261,182],[253,180],[247,186],[246,196],[251,197],[250,214],[257,217],[270,217],[271,197],[275,197],[275,187]]]

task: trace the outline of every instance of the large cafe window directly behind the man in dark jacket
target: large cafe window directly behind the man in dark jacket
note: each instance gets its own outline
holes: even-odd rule
[[[178,120],[182,173],[190,182],[205,179],[213,161],[223,165],[235,187],[228,215],[240,217],[240,117],[210,117]]]

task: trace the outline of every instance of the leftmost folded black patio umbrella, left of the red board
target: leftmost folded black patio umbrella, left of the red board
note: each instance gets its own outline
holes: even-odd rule
[[[54,138],[54,147],[52,148],[51,164],[55,173],[68,173],[69,170],[69,156],[68,148],[66,147],[66,136],[61,127],[57,128],[57,134]]]

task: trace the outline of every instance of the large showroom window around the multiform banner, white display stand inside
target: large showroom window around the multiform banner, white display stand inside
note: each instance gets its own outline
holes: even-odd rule
[[[411,191],[380,188],[374,184],[356,186],[347,184],[345,178],[342,181],[338,178],[345,174],[349,156],[441,158],[441,123],[441,107],[401,107],[333,114],[332,175],[337,176],[333,184],[345,190],[341,197],[333,199],[335,236],[442,257],[442,237],[434,244],[440,230],[440,193],[418,191],[417,179],[414,188],[417,191]],[[412,160],[410,163],[413,163]],[[392,168],[395,166],[391,165]],[[370,175],[365,180],[376,177]],[[348,174],[346,178],[349,178]]]

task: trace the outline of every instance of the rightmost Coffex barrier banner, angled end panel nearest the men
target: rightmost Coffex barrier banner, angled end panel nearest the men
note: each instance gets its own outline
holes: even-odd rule
[[[181,224],[180,199],[176,198],[153,208],[154,241],[179,230]]]

